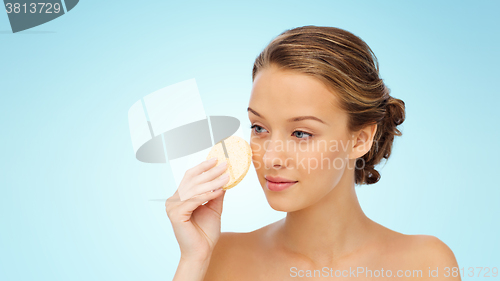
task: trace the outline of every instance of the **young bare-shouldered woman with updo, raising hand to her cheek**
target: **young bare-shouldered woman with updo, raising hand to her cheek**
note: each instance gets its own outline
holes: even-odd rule
[[[193,167],[181,185],[215,191],[182,202],[176,192],[165,203],[181,250],[174,280],[460,280],[438,238],[390,230],[359,205],[355,185],[380,179],[375,165],[405,119],[363,40],[334,27],[287,30],[257,57],[252,78],[252,160],[286,218],[221,233],[218,188],[228,179],[216,178],[226,167]]]

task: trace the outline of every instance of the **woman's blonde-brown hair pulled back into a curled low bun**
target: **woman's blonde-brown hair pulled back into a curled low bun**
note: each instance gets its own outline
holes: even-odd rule
[[[312,75],[333,90],[340,107],[349,116],[347,127],[355,132],[377,124],[372,147],[356,159],[356,184],[374,184],[380,180],[375,165],[391,155],[396,127],[405,120],[405,103],[389,95],[379,77],[378,61],[370,47],[356,35],[327,26],[303,26],[289,29],[274,38],[257,56],[252,81],[259,70],[279,68]],[[361,165],[359,165],[361,166]]]

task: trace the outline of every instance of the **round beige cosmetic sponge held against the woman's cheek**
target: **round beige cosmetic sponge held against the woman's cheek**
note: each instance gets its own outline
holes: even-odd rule
[[[208,153],[207,160],[217,157],[216,166],[220,165],[220,163],[224,161],[227,161],[229,182],[222,187],[222,189],[227,190],[240,183],[240,181],[247,174],[252,162],[252,149],[250,148],[248,142],[238,136],[230,136],[224,139],[224,144],[226,146],[227,155],[229,156],[228,159],[226,159],[226,156],[224,155],[222,143],[219,142],[212,147]],[[225,173],[227,173],[227,170]]]

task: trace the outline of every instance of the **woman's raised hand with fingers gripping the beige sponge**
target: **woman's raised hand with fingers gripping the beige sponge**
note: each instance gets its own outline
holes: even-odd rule
[[[227,169],[226,162],[214,167],[216,162],[217,159],[207,160],[189,169],[179,185],[183,190],[208,192],[180,201],[178,188],[165,202],[167,215],[181,250],[181,259],[205,261],[210,258],[219,240],[225,194],[225,190],[221,188],[229,181],[229,175],[226,173],[227,178],[223,175],[216,179]],[[207,201],[207,204],[202,205]]]

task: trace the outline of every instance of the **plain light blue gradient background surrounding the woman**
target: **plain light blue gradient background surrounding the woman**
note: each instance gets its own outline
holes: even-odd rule
[[[366,214],[437,236],[460,267],[500,267],[499,3],[80,1],[17,34],[0,12],[0,280],[171,280],[179,248],[155,200],[177,187],[168,163],[134,158],[129,107],[196,78],[207,114],[249,126],[253,60],[302,25],[360,36],[406,103],[382,179],[357,187]],[[284,215],[252,167],[222,230]]]

